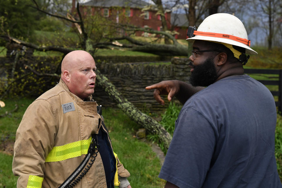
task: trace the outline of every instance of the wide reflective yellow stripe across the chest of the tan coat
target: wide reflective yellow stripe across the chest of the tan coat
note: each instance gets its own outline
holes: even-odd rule
[[[63,161],[87,154],[91,139],[90,137],[88,140],[80,140],[62,146],[55,146],[48,154],[45,162]]]

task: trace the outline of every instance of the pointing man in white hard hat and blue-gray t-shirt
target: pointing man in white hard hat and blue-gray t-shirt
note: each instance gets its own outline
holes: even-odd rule
[[[188,32],[192,85],[170,80],[146,87],[161,104],[161,94],[184,104],[159,175],[165,188],[282,187],[275,102],[263,84],[244,75],[246,53],[256,54],[244,25],[230,14],[213,14]]]

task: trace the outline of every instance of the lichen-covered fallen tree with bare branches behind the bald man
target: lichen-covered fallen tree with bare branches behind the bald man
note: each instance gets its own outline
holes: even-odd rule
[[[34,1],[35,2],[35,1]],[[35,2],[36,3],[36,2]],[[77,4],[78,11],[79,11],[79,4]],[[36,9],[39,9],[39,7],[36,4]],[[52,15],[52,14],[49,14]],[[81,19],[81,16],[80,16]],[[73,22],[73,21],[72,21]],[[75,22],[82,28],[83,21],[82,19],[80,21]],[[77,26],[77,27],[78,27]],[[83,50],[88,51],[90,54],[93,55],[93,52],[95,51],[94,48],[98,45],[102,45],[99,43],[93,44],[91,42],[91,39],[89,38],[87,32],[84,29],[81,29],[81,35],[83,36],[81,47]],[[9,35],[1,35],[0,38],[8,41],[9,43],[17,43],[20,45],[28,46],[30,48],[33,48],[37,51],[59,51],[62,52],[64,55],[63,57],[70,51],[73,51],[73,49],[70,48],[63,48],[61,46],[38,46],[33,43],[25,42],[22,40],[19,40],[17,38],[11,37]],[[129,40],[131,40],[129,38]],[[133,39],[132,39],[133,40]],[[136,45],[135,41],[135,45]],[[148,44],[139,42],[140,44],[143,44],[142,46],[146,46]],[[134,49],[134,48],[133,48]],[[60,67],[60,66],[59,66]],[[60,78],[59,73],[42,73],[34,70],[31,66],[25,65],[25,69],[30,70],[32,73],[38,76],[47,76],[47,77],[55,77]],[[57,70],[60,70],[57,68]],[[22,73],[21,73],[22,74]],[[26,73],[28,74],[28,73]],[[30,74],[30,73],[29,73]],[[24,76],[21,76],[21,78],[24,78]],[[12,79],[11,82],[15,82],[15,79]],[[148,130],[152,134],[157,134],[160,142],[164,144],[164,147],[167,149],[169,147],[169,143],[172,139],[172,136],[164,129],[160,123],[158,123],[156,120],[152,119],[151,117],[145,115],[140,110],[138,110],[132,103],[130,103],[126,98],[122,96],[122,94],[115,88],[115,86],[109,82],[109,80],[101,74],[99,71],[97,71],[97,84],[101,86],[105,92],[109,95],[109,97],[115,101],[118,107],[120,107],[129,117],[132,118],[136,123],[144,127],[146,130]],[[9,85],[7,86],[6,90],[3,92],[4,94],[7,94],[9,91]],[[1,98],[1,97],[0,97]]]

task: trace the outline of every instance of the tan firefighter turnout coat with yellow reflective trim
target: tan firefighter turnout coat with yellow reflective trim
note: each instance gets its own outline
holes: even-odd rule
[[[85,157],[82,151],[87,152],[88,148],[79,143],[98,133],[101,126],[101,123],[98,125],[99,118],[96,102],[82,101],[70,93],[62,80],[37,98],[27,108],[16,132],[12,170],[14,175],[19,176],[17,187],[32,184],[39,187],[38,182],[42,182],[42,187],[61,185]],[[80,147],[78,153],[81,154],[75,153],[79,156],[73,157],[74,153],[66,150],[65,158],[46,162],[53,147],[72,143]],[[117,151],[115,153],[118,154]],[[117,172],[121,177],[130,176],[119,160]],[[75,187],[107,188],[99,153],[86,177]]]

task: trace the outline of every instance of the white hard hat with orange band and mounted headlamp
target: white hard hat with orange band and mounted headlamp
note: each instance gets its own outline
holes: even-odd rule
[[[186,39],[189,42],[194,40],[215,41],[246,48],[247,54],[258,54],[249,47],[251,41],[248,40],[247,31],[243,23],[231,14],[212,14],[204,19],[198,29],[191,26],[189,29],[190,36],[192,36]],[[188,36],[189,29],[187,32]]]

